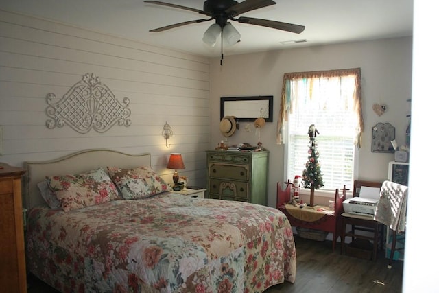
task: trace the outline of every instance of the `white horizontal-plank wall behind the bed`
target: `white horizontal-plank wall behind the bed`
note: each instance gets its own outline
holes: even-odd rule
[[[167,159],[181,152],[186,169],[179,173],[204,186],[209,67],[206,58],[0,10],[0,161],[21,166],[89,148],[151,152],[152,166],[171,182]],[[86,73],[119,102],[130,99],[130,127],[80,134],[45,126],[46,95],[61,99]],[[166,121],[174,132],[169,149],[161,134]]]

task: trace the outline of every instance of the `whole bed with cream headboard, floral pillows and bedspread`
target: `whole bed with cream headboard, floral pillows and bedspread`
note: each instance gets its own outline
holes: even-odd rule
[[[296,248],[281,211],[175,194],[150,160],[84,150],[25,163],[29,272],[60,292],[263,292],[294,283]]]

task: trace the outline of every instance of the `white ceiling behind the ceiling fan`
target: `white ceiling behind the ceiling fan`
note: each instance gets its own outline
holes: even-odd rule
[[[204,3],[204,0],[161,1],[199,10]],[[0,8],[191,54],[213,57],[220,52],[219,42],[213,48],[202,43],[202,35],[213,21],[148,32],[204,16],[143,3],[143,0],[0,0]],[[413,0],[276,0],[276,5],[239,16],[305,25],[305,31],[293,34],[233,22],[241,34],[241,42],[225,48],[226,55],[412,36],[413,32]],[[295,40],[307,42],[294,43]]]

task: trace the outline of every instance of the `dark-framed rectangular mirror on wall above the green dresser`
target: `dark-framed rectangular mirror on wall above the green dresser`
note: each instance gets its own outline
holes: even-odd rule
[[[259,117],[265,121],[273,121],[273,96],[259,95],[257,97],[222,97],[221,113],[224,116],[235,116],[237,121],[254,121]]]

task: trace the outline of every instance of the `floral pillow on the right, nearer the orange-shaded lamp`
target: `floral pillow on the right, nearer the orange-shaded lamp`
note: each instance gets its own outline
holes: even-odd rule
[[[116,183],[123,198],[134,200],[147,198],[163,191],[171,191],[171,187],[151,167],[121,169],[107,167],[110,178]]]

